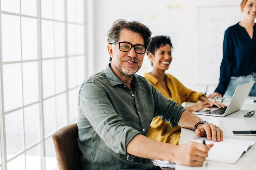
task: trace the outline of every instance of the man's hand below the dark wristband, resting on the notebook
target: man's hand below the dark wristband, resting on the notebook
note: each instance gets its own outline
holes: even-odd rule
[[[213,138],[213,141],[222,141],[223,140],[223,132],[222,130],[216,125],[210,123],[210,124],[199,124],[197,126],[197,129],[195,130],[196,136],[207,136],[207,139],[211,140],[211,137]]]

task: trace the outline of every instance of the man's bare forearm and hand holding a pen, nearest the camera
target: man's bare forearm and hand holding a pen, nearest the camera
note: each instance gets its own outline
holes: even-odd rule
[[[213,144],[204,145],[193,141],[171,145],[138,134],[127,145],[126,152],[138,157],[169,160],[181,165],[202,166],[212,146]]]

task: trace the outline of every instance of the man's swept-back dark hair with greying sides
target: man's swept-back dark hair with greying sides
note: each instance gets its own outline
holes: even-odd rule
[[[107,32],[107,42],[108,43],[115,43],[118,42],[120,38],[120,32],[123,30],[129,30],[135,33],[141,34],[144,39],[144,45],[149,46],[150,44],[150,37],[151,31],[149,27],[146,25],[138,22],[138,21],[126,21],[124,19],[117,19],[114,24],[112,25],[111,29]],[[111,57],[109,61],[111,62]]]

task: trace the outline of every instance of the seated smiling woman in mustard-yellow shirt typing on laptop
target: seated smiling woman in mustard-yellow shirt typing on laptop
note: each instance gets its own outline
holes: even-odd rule
[[[224,105],[219,102],[209,101],[203,93],[197,93],[191,89],[187,89],[174,76],[165,74],[165,70],[168,70],[171,60],[173,59],[171,56],[171,48],[172,44],[169,37],[156,36],[152,38],[147,48],[147,55],[152,62],[153,70],[150,73],[144,74],[146,80],[165,97],[176,101],[178,105],[181,105],[184,101],[196,102],[193,106],[186,107],[190,112],[197,112],[205,107],[212,107],[213,105],[219,108],[224,107]],[[170,122],[156,117],[153,118],[150,124],[147,137],[164,143],[178,145],[180,131],[180,126],[171,127]],[[213,140],[216,141],[216,138]]]

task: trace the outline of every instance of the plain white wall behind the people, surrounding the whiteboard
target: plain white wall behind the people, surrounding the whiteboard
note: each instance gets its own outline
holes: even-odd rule
[[[107,31],[116,19],[137,20],[147,25],[152,36],[171,37],[173,61],[166,73],[172,74],[187,88],[205,92],[205,86],[196,82],[198,49],[198,6],[239,6],[242,0],[94,0],[94,73],[105,69],[109,63]],[[218,11],[216,11],[217,13]],[[152,70],[148,57],[139,75]],[[207,72],[205,74],[207,76]],[[208,94],[216,86],[209,87]]]

